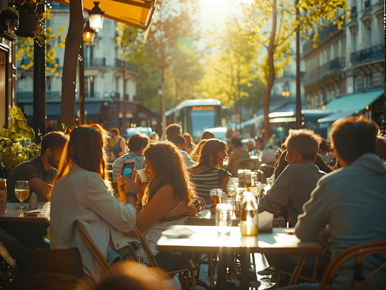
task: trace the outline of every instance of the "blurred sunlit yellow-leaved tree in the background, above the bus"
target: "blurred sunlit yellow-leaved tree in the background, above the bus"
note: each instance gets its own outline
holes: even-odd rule
[[[237,19],[225,25],[222,34],[210,32],[208,47],[213,55],[206,57],[206,72],[200,82],[202,97],[219,99],[227,107],[240,107],[249,97],[246,88],[259,79],[257,55],[259,47],[240,32]],[[256,97],[256,96],[251,96]]]

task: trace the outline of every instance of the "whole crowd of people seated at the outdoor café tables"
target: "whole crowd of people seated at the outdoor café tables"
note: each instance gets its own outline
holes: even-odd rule
[[[195,144],[178,124],[166,127],[164,134],[163,141],[134,134],[126,142],[117,128],[107,132],[98,124],[74,127],[69,135],[50,132],[42,138],[41,154],[11,173],[9,196],[14,196],[12,184],[21,178],[29,181],[40,201],[51,197],[50,248],[78,248],[87,273],[97,283],[106,277],[81,239],[76,221],[86,228],[110,264],[130,261],[134,254],[139,262],[149,262],[132,231],[136,226],[158,265],[173,271],[182,257],[176,252],[157,251],[161,232],[196,215],[201,201],[210,204],[210,189],[226,191],[236,161],[250,156],[274,166],[275,182],[259,199],[258,211],[274,213],[282,208],[301,240],[319,241],[322,232],[323,237],[329,235],[334,257],[348,246],[386,239],[386,138],[374,121],[364,117],[339,119],[330,129],[330,140],[310,129],[291,129],[280,148],[266,144],[264,132],[245,146],[238,137],[230,138],[228,146],[210,131],[204,131]],[[112,179],[104,153],[108,147],[113,148]],[[134,162],[130,176],[123,174],[127,161]],[[137,173],[140,169],[149,181],[142,182]],[[368,212],[374,214],[371,223],[364,218]],[[25,263],[32,249],[22,244],[19,230],[12,231],[14,225],[7,223],[0,227],[0,240],[19,263]],[[330,254],[326,251],[321,256],[320,268],[328,264]],[[271,272],[292,272],[298,257],[266,255]],[[366,265],[368,270],[379,261],[372,260]],[[312,268],[313,260],[305,267]],[[350,267],[347,263],[346,268]],[[379,275],[386,274],[381,271]],[[377,283],[382,285],[379,275]],[[339,272],[334,289],[349,289],[351,282],[351,274]]]

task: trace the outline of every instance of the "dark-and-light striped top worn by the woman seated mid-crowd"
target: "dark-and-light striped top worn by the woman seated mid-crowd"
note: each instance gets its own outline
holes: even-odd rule
[[[195,173],[191,173],[191,180],[196,185],[196,193],[200,198],[210,204],[209,191],[213,188],[220,188],[221,181],[230,173],[225,169],[207,167]]]

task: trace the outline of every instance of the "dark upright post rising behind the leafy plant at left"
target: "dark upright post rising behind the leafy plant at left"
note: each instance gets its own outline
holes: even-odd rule
[[[46,46],[34,41],[34,83],[32,93],[32,107],[34,115],[32,117],[32,129],[35,134],[39,131],[42,135],[46,134]]]

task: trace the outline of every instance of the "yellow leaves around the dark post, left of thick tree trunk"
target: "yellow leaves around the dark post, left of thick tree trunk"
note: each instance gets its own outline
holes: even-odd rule
[[[51,12],[50,9],[47,9],[47,11],[45,12],[44,17],[46,17],[47,20],[52,19],[52,17],[50,16],[50,12]],[[53,34],[52,27],[47,27],[46,31],[44,32],[44,36],[42,36],[43,45],[48,45],[51,39],[58,39],[59,36],[62,35],[63,30],[64,30],[64,25],[62,25],[59,28],[59,32],[57,34]],[[22,60],[23,56],[27,56],[29,59],[29,64],[20,65],[20,69],[27,70],[34,65],[34,41],[35,41],[34,38],[17,37],[16,61]],[[58,46],[64,49],[65,41],[66,41],[66,37],[64,37],[61,40],[61,42],[58,43],[58,45],[55,45],[55,46],[52,45],[49,47],[49,49],[46,50],[46,62],[48,62],[49,64],[54,64],[54,67],[46,66],[46,71],[55,72],[56,69],[58,68],[58,64],[55,64],[55,56],[56,56],[55,48],[56,46]]]

